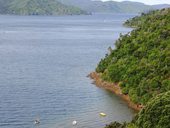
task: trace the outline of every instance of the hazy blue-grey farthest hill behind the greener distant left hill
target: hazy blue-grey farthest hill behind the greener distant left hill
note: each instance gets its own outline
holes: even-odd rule
[[[109,13],[139,13],[152,9],[152,6],[139,2],[115,2],[115,1],[92,1],[92,0],[59,0],[66,5],[74,5],[89,12]]]

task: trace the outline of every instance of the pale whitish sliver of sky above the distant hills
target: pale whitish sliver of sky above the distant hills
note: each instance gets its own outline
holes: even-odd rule
[[[108,1],[108,0],[102,0],[102,1]],[[136,2],[142,2],[145,4],[170,4],[170,0],[113,0],[113,1],[136,1]]]

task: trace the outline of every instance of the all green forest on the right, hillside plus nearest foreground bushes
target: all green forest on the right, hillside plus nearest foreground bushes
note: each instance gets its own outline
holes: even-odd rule
[[[106,128],[170,128],[170,8],[142,13],[124,25],[134,29],[115,42],[99,62],[104,81],[118,83],[132,102],[143,105],[131,123]]]

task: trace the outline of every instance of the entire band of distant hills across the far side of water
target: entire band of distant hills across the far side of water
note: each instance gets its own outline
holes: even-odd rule
[[[0,0],[0,14],[80,15],[89,13],[141,13],[170,7],[168,4],[145,5],[139,2],[100,0]],[[87,13],[88,12],[88,13]]]

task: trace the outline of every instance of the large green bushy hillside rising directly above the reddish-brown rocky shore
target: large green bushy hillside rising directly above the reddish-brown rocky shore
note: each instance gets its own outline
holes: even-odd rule
[[[116,48],[98,64],[102,79],[119,82],[122,92],[145,105],[170,90],[170,9],[152,11],[128,20],[136,27],[120,35]]]

